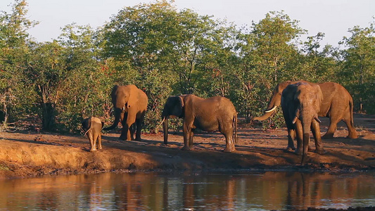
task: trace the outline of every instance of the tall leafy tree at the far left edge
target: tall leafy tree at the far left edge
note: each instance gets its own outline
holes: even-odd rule
[[[23,70],[27,68],[32,42],[27,30],[37,22],[26,18],[26,7],[26,1],[15,0],[11,13],[0,13],[0,106],[5,116],[4,126],[8,116],[17,120],[25,117],[24,113],[32,107],[32,90],[25,83]]]

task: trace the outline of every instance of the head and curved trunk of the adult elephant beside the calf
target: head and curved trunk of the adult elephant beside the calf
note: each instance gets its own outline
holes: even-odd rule
[[[137,89],[135,85],[113,87],[110,94],[113,103],[113,110],[115,112],[115,121],[112,126],[104,128],[110,130],[117,127],[118,122],[122,122],[125,118],[125,113],[129,108],[136,106],[138,101]]]

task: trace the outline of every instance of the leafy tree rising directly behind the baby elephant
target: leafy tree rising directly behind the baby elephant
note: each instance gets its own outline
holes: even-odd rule
[[[89,25],[66,25],[58,43],[66,64],[63,92],[58,96],[58,122],[63,130],[76,131],[83,118],[108,117],[113,76],[106,60],[100,58],[97,34]]]

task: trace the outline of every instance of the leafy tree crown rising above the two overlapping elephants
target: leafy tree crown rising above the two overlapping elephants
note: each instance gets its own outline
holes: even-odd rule
[[[260,74],[282,82],[288,77],[286,65],[298,53],[296,41],[305,30],[298,27],[298,20],[291,20],[281,12],[269,12],[259,23],[253,23],[253,63]]]

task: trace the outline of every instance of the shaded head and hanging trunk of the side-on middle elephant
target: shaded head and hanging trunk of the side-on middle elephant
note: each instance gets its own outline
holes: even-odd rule
[[[164,143],[168,143],[168,118],[184,117],[184,96],[169,96],[162,112]]]

